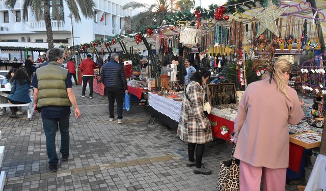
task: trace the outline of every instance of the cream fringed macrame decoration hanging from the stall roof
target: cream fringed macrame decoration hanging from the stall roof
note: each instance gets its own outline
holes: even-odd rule
[[[180,31],[180,43],[191,48],[201,43],[202,30],[182,26]]]

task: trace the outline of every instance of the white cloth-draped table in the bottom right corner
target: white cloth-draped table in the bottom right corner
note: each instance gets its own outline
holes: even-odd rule
[[[319,154],[317,156],[314,168],[311,171],[308,184],[305,191],[322,188],[326,190],[326,156]]]

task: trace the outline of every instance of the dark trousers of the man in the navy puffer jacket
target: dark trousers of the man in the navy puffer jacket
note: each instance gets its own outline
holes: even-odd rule
[[[107,99],[108,99],[108,113],[110,118],[114,118],[114,101],[117,101],[117,112],[118,119],[122,119],[122,104],[124,98],[124,90],[117,88],[108,88],[106,87]]]

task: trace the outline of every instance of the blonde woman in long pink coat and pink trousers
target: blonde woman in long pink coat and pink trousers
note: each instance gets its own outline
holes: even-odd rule
[[[263,190],[285,190],[288,124],[297,124],[304,115],[303,102],[287,86],[290,69],[284,59],[272,63],[271,77],[250,84],[242,96],[234,124],[240,191],[259,191],[261,177]]]

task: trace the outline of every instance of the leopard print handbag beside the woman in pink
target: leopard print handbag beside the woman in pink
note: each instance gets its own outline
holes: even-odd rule
[[[230,160],[221,161],[220,172],[216,188],[219,191],[239,191],[239,177],[240,177],[240,160],[233,157],[235,145],[233,146]]]

